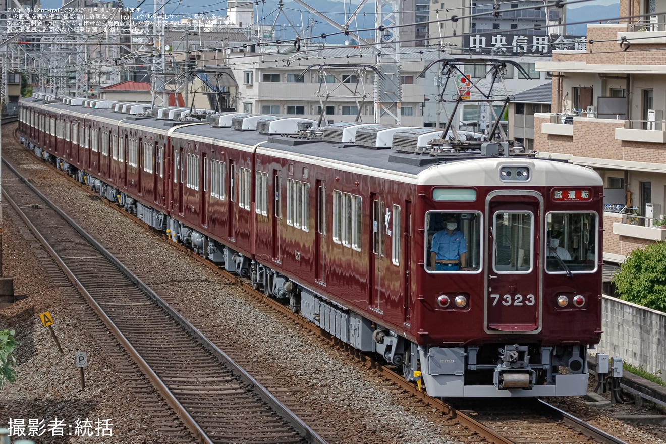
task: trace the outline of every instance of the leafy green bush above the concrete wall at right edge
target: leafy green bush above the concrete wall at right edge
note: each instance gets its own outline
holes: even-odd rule
[[[666,312],[666,242],[633,250],[613,282],[623,300]]]

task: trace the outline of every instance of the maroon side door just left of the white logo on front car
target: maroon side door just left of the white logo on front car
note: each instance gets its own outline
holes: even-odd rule
[[[384,208],[386,204],[379,194],[371,194],[372,204],[372,253],[370,254],[370,309],[382,313],[382,295],[384,294]]]

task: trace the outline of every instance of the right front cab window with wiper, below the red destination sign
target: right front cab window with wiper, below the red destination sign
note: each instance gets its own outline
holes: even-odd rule
[[[596,270],[597,214],[547,214],[545,255],[545,269],[549,273]]]

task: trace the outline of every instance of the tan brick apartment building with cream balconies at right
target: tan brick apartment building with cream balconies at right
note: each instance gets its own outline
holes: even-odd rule
[[[645,19],[588,25],[594,43],[585,51],[555,51],[536,64],[553,73],[553,99],[552,112],[534,116],[535,149],[601,174],[603,258],[612,262],[666,239],[653,226],[666,212],[666,32],[663,17],[650,15],[654,3],[621,1],[621,17]]]

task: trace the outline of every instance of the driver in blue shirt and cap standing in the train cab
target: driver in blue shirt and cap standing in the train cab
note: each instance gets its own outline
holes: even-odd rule
[[[435,233],[430,246],[430,266],[438,272],[469,270],[466,265],[467,242],[457,230],[454,216],[446,217],[446,229]]]

